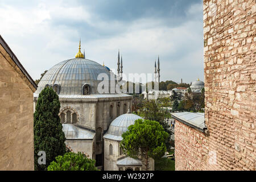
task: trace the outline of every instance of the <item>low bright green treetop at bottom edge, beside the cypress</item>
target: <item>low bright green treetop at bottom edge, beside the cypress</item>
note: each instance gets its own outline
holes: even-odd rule
[[[48,171],[98,171],[95,160],[89,159],[85,154],[78,152],[67,152],[59,155],[48,166]]]

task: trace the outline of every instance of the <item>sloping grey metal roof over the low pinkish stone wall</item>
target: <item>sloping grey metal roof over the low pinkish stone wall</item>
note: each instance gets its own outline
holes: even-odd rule
[[[172,117],[185,125],[194,127],[200,131],[204,131],[207,127],[204,122],[204,113],[171,113]]]

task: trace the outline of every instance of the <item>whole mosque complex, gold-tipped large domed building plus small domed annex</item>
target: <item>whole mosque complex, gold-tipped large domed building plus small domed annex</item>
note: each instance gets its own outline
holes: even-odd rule
[[[99,93],[97,89],[102,81],[98,79],[101,73],[107,75],[109,82],[117,84],[122,80],[119,51],[117,66],[117,75],[114,75],[105,65],[85,59],[80,41],[75,58],[54,65],[42,77],[34,93],[34,108],[39,93],[51,86],[59,95],[59,116],[67,147],[96,160],[98,169],[143,170],[142,162],[125,156],[119,146],[122,133],[141,118],[130,113],[133,96],[115,91]],[[115,89],[115,85],[109,85],[108,90]],[[150,169],[154,170],[154,160]]]

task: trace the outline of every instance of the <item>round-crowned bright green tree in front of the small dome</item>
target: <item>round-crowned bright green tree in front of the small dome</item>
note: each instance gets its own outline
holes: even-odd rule
[[[166,152],[166,133],[159,122],[137,119],[122,134],[121,147],[131,158],[142,160],[148,170],[148,159],[159,159]]]

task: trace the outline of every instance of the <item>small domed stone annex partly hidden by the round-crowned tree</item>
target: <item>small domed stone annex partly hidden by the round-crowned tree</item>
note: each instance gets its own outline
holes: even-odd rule
[[[130,105],[129,105],[130,106]],[[130,113],[130,108],[126,114],[115,118],[109,126],[109,130],[104,135],[104,170],[105,171],[142,171],[145,166],[141,160],[130,158],[123,154],[120,143],[122,134],[127,131],[130,125],[134,125],[135,120],[142,119],[136,114]],[[149,170],[154,170],[154,160],[149,160]]]

